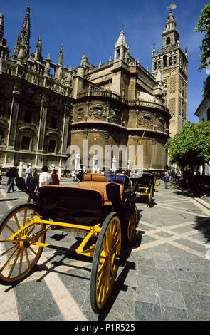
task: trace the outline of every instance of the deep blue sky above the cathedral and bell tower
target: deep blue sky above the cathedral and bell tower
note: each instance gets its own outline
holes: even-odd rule
[[[177,0],[174,16],[182,48],[189,54],[188,119],[198,122],[194,115],[202,100],[202,84],[206,72],[198,71],[199,46],[202,35],[194,32],[201,9],[206,0]],[[13,51],[16,36],[21,29],[26,6],[31,6],[31,52],[35,50],[38,36],[42,37],[43,57],[51,53],[53,62],[58,60],[61,43],[64,65],[78,66],[85,52],[88,61],[98,65],[114,54],[115,42],[124,25],[125,38],[130,54],[142,66],[152,66],[152,45],[162,46],[162,30],[167,21],[169,0],[7,0],[1,1],[4,13],[4,38]]]

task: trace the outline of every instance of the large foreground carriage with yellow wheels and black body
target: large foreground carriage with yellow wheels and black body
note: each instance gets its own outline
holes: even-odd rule
[[[78,187],[47,185],[36,195],[17,177],[17,187],[30,195],[34,204],[16,206],[1,218],[0,282],[15,284],[26,278],[43,248],[62,250],[89,262],[92,259],[90,302],[93,311],[100,313],[112,294],[122,248],[135,238],[136,197],[126,178],[121,183],[107,182],[103,175],[86,174]],[[74,232],[80,237],[79,246],[46,243],[51,230]]]

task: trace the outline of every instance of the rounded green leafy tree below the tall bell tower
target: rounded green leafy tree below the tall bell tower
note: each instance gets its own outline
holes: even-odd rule
[[[210,160],[210,121],[202,123],[187,122],[182,130],[169,138],[165,147],[171,163],[191,170]]]

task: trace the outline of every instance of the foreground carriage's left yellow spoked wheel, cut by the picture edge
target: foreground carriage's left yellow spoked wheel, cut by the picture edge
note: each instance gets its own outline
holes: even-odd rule
[[[28,220],[40,216],[35,205],[24,204],[14,207],[0,222],[0,281],[12,284],[19,282],[31,272],[41,257],[43,247],[33,245],[36,242],[45,242],[46,234],[37,235],[44,230],[44,225],[32,225],[25,230],[22,227]],[[16,234],[19,232],[18,234]],[[13,241],[12,235],[16,234]],[[32,241],[33,236],[33,241]]]

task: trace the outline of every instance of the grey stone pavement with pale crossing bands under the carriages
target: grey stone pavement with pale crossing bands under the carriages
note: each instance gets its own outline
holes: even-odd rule
[[[1,285],[0,320],[210,320],[209,204],[173,185],[160,185],[154,197],[152,208],[137,204],[137,237],[103,315],[90,307],[91,264],[44,249],[36,272],[15,287]],[[1,217],[25,201],[2,185]],[[59,231],[50,237],[69,244]]]

